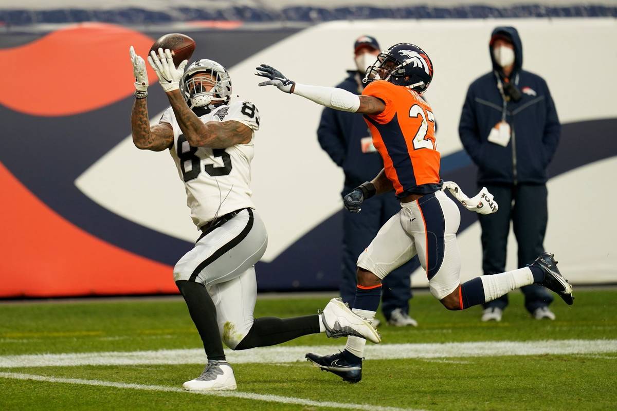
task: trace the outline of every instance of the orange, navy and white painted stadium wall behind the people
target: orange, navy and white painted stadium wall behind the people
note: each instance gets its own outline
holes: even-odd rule
[[[547,250],[574,283],[617,282],[611,234],[617,195],[617,37],[613,18],[364,20],[300,30],[193,28],[194,58],[230,69],[234,93],[260,111],[252,174],[254,200],[270,235],[257,267],[261,290],[337,287],[342,173],[320,149],[320,108],[259,89],[252,75],[269,63],[300,83],[332,86],[353,67],[352,43],[374,35],[382,46],[412,41],[428,52],[435,76],[427,99],[439,123],[442,177],[475,187],[457,126],[468,85],[491,67],[496,25],[514,25],[524,68],[549,84],[563,124],[549,168]],[[174,30],[175,31],[175,30]],[[186,31],[186,30],[184,30]],[[167,31],[87,23],[0,36],[0,296],[176,292],[172,266],[197,238],[183,184],[167,152],[133,147],[133,80],[128,46],[139,54]],[[188,31],[187,31],[188,32]],[[153,123],[167,107],[149,72]],[[320,196],[297,190],[320,184]],[[462,211],[462,278],[481,274],[476,216]],[[510,238],[508,268],[515,267]],[[415,272],[413,286],[426,285]]]

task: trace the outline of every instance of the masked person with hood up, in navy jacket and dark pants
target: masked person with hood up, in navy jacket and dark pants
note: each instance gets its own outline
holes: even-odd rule
[[[547,166],[561,126],[546,81],[523,70],[523,46],[513,27],[497,27],[489,43],[491,72],[467,91],[458,126],[466,152],[478,166],[478,185],[494,195],[499,211],[479,215],[484,275],[505,271],[510,221],[518,243],[518,267],[544,251]],[[511,205],[511,206],[505,206]],[[552,296],[538,285],[521,288],[536,319],[555,319]],[[482,320],[500,321],[508,296],[485,304]]]

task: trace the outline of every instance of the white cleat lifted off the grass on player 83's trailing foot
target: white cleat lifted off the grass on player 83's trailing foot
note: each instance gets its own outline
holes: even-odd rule
[[[341,298],[333,298],[321,312],[321,321],[328,337],[357,336],[379,344],[381,336],[370,322],[352,312]]]

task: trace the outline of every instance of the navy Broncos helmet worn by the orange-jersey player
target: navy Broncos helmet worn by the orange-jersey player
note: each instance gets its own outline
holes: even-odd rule
[[[379,79],[421,93],[433,80],[433,62],[415,44],[394,44],[379,53],[375,63],[366,69],[363,81],[368,83]]]

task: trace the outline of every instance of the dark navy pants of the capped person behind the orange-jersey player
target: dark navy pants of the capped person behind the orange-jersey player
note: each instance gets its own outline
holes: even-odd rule
[[[353,189],[352,187],[349,191]],[[386,224],[386,221],[399,211],[400,203],[394,196],[394,192],[384,193],[366,200],[362,203],[360,213],[350,213],[343,210],[341,297],[344,302],[350,305],[354,303],[358,257],[375,238],[381,226]],[[409,299],[412,298],[410,275],[419,266],[420,262],[415,257],[392,271],[383,280],[381,311],[386,319],[389,319],[392,311],[397,308],[408,312]]]

